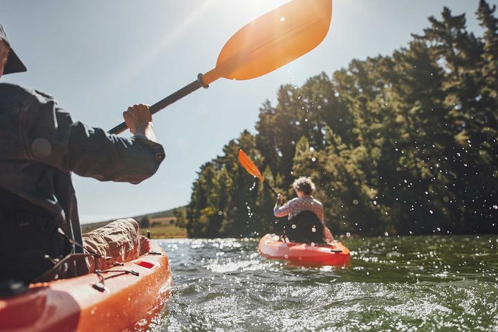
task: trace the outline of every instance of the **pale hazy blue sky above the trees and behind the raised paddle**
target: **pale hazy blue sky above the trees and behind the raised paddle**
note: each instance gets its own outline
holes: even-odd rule
[[[243,25],[287,1],[1,0],[0,21],[27,73],[12,82],[55,95],[75,120],[110,129],[131,104],[154,104],[209,71]],[[497,4],[498,0],[490,3]],[[196,172],[243,129],[254,131],[259,106],[281,84],[302,85],[351,59],[388,55],[443,6],[466,12],[481,33],[478,0],[335,0],[329,35],[315,50],[256,80],[219,80],[154,118],[167,157],[140,185],[73,176],[83,222],[184,205]]]

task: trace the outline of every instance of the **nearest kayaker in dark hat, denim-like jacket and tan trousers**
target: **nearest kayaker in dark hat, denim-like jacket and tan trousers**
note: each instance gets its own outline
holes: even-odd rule
[[[0,77],[23,71],[0,24]],[[136,184],[163,161],[149,107],[134,105],[123,117],[131,138],[73,122],[46,93],[0,83],[0,282],[75,277],[149,251],[133,219],[82,234],[77,214],[72,172]],[[97,255],[57,264],[83,252]]]

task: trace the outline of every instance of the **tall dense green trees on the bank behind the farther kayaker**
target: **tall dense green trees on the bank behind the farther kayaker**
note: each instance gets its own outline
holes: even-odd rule
[[[444,8],[392,55],[281,86],[248,131],[201,167],[187,207],[191,237],[275,229],[275,197],[239,165],[246,151],[289,198],[311,176],[334,233],[497,232],[498,19],[483,36]],[[250,189],[251,188],[251,189]]]

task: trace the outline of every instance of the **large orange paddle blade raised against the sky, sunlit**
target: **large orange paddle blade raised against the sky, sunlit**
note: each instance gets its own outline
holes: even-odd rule
[[[216,68],[202,80],[249,80],[270,73],[320,44],[331,18],[332,0],[286,3],[237,31],[221,50]]]

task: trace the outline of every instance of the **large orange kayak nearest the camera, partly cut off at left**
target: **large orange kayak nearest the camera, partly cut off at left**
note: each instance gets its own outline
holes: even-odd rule
[[[0,298],[0,331],[143,331],[172,291],[168,257],[154,242],[149,254],[102,277],[104,291],[93,288],[100,279],[92,273]]]

